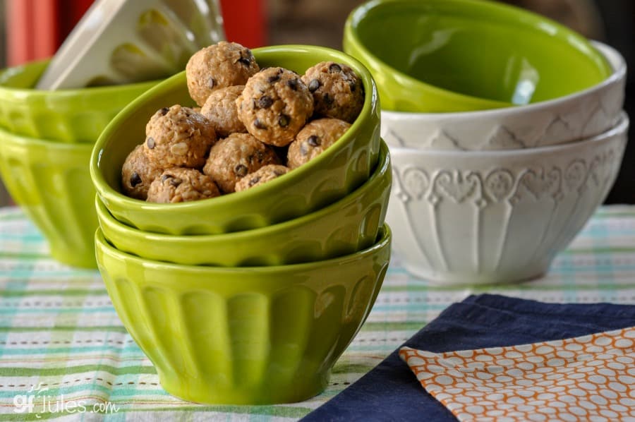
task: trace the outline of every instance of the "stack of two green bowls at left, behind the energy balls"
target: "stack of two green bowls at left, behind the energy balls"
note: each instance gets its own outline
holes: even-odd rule
[[[0,72],[0,175],[56,260],[95,267],[92,145],[123,107],[155,83],[33,89],[47,64],[34,61]]]

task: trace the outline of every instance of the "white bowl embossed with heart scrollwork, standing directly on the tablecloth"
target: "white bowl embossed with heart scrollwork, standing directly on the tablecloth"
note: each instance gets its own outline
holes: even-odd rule
[[[628,116],[576,143],[513,151],[392,147],[387,222],[413,275],[520,282],[548,271],[615,181]]]

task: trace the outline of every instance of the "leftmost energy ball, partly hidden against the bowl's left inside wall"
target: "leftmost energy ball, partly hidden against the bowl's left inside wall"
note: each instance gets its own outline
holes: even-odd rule
[[[137,145],[123,162],[121,167],[121,186],[123,193],[131,198],[145,200],[150,183],[161,172],[162,168],[155,166],[143,153],[143,145]]]

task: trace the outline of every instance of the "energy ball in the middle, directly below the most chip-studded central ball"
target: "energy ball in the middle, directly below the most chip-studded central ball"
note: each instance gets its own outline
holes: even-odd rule
[[[212,147],[203,173],[212,176],[223,193],[231,193],[243,177],[262,166],[279,162],[270,145],[249,133],[232,133]]]

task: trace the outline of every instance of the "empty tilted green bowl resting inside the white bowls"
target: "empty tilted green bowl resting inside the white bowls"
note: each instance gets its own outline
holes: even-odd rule
[[[611,74],[568,28],[485,0],[374,0],[344,27],[344,51],[394,111],[470,111],[551,100]]]

